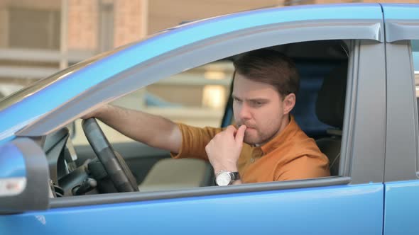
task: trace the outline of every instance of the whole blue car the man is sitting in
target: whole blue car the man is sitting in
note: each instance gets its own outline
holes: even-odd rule
[[[293,115],[332,176],[218,187],[206,162],[109,142],[92,119],[90,145],[72,143],[99,105],[260,48],[295,61]],[[418,234],[418,53],[419,5],[335,4],[187,23],[75,64],[0,101],[0,234]]]

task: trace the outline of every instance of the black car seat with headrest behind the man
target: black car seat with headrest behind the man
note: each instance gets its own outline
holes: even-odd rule
[[[327,130],[327,137],[316,140],[320,151],[330,161],[331,176],[339,175],[346,90],[347,62],[344,62],[325,76],[316,101],[317,117],[332,127]]]

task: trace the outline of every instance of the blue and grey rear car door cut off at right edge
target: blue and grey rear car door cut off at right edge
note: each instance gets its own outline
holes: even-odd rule
[[[418,234],[419,7],[383,4],[386,19],[387,131],[384,234]]]

